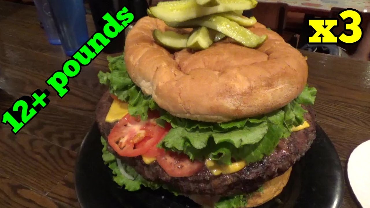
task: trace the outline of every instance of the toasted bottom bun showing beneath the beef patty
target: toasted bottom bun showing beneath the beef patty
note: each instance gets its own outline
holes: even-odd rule
[[[263,192],[256,191],[247,197],[248,204],[245,208],[258,207],[259,205],[265,204],[266,202],[279,195],[289,181],[290,172],[292,172],[292,167],[290,167],[282,175],[265,182],[262,185]],[[198,194],[188,195],[188,197],[197,204],[200,204],[203,207],[207,208],[213,207],[213,204],[215,204],[215,202],[218,202],[218,200],[220,199],[219,196],[206,197]]]

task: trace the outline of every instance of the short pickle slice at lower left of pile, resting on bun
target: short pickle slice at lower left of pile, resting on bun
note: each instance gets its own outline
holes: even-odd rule
[[[153,38],[159,45],[174,50],[181,50],[186,48],[186,42],[188,41],[189,34],[178,34],[174,31],[165,31],[155,29],[153,31]]]

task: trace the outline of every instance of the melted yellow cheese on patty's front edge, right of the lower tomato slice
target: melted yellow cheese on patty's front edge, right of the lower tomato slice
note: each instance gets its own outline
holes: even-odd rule
[[[245,161],[233,162],[231,165],[220,165],[212,160],[206,160],[206,167],[211,171],[212,175],[231,174],[238,172],[246,166]]]

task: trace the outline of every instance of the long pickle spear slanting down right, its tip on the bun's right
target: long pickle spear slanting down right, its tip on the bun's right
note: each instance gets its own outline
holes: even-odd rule
[[[266,40],[267,36],[258,36],[252,33],[245,27],[240,26],[238,23],[230,21],[225,17],[221,17],[215,14],[200,17],[194,20],[188,20],[184,22],[166,22],[170,27],[197,27],[205,26],[210,29],[219,31],[228,37],[233,38],[243,46],[255,48]]]

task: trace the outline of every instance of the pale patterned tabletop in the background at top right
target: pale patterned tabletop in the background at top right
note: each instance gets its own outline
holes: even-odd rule
[[[258,0],[259,2],[287,3],[292,7],[330,11],[332,7],[352,8],[361,12],[370,12],[370,0]]]

